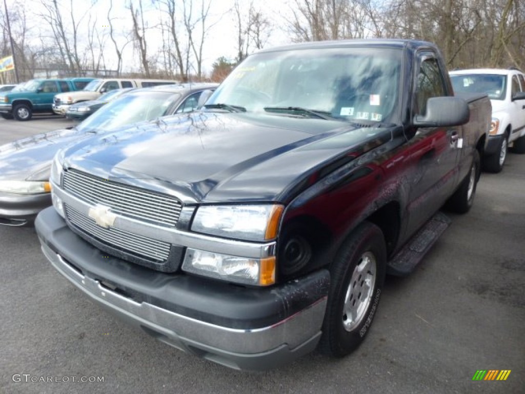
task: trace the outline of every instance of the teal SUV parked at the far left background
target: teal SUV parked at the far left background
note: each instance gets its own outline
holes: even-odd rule
[[[34,113],[53,113],[51,106],[57,92],[83,89],[92,79],[31,79],[0,94],[0,116],[25,121],[31,119]]]

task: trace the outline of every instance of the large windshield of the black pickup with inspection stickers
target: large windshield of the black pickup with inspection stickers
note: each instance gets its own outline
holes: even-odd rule
[[[228,76],[206,109],[384,121],[397,106],[401,55],[365,47],[256,54]]]

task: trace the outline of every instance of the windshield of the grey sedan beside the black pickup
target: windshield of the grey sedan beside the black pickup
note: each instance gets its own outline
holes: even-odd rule
[[[112,100],[86,120],[77,129],[83,132],[98,132],[116,129],[131,123],[152,120],[169,115],[166,113],[180,94],[172,92],[139,92]]]

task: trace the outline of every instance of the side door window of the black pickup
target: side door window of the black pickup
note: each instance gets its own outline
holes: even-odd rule
[[[445,96],[445,85],[437,59],[423,57],[416,81],[415,113],[425,115],[427,100],[442,96]]]

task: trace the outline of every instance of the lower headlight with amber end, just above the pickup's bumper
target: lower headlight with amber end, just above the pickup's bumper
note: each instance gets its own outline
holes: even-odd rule
[[[275,283],[275,256],[248,258],[188,248],[182,269],[241,284],[268,286]]]

